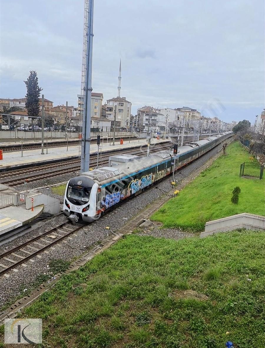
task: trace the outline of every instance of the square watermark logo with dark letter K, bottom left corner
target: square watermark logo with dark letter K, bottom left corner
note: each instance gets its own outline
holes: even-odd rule
[[[42,343],[42,319],[5,319],[5,343]]]

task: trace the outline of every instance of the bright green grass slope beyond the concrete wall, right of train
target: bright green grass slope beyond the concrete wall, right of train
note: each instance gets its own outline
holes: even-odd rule
[[[239,177],[240,164],[250,162],[250,154],[239,142],[230,144],[226,152],[227,156],[215,160],[151,219],[163,222],[163,227],[201,231],[206,221],[221,217],[245,212],[265,215],[265,179]],[[234,205],[231,197],[236,186],[241,193],[239,203]]]

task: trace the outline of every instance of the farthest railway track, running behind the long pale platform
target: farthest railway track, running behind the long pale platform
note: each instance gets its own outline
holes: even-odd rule
[[[115,136],[115,141],[119,142],[121,139],[123,140],[135,140],[138,139],[136,136]],[[107,137],[103,138],[104,144],[107,143]],[[100,139],[100,142],[103,142],[102,139]],[[108,142],[113,141],[113,137],[108,137]],[[75,139],[75,140],[68,140],[68,146],[74,146],[74,145],[79,145],[80,144],[80,139]],[[97,139],[92,138],[91,139],[91,144],[96,144]],[[67,140],[62,140],[62,141],[50,141],[48,142],[48,148],[56,148],[56,147],[64,147],[67,146]],[[44,148],[47,147],[47,143],[44,140]],[[36,149],[41,149],[41,142],[37,142],[35,144],[32,143],[23,143],[23,150],[36,150]],[[21,143],[19,142],[18,144],[13,144],[13,145],[1,145],[1,150],[5,152],[13,152],[13,151],[20,151],[21,150]]]

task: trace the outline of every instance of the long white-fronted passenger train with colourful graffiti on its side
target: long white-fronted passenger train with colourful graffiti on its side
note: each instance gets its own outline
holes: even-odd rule
[[[231,136],[233,132],[212,135],[179,147],[177,155],[162,150],[119,166],[101,167],[75,176],[67,182],[63,212],[73,223],[93,222],[115,205],[172,174],[174,158],[178,159],[176,167],[181,168]]]

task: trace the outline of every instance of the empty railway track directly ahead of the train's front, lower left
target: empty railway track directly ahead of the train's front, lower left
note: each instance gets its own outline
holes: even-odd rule
[[[26,266],[25,262],[28,260],[34,262],[32,259],[34,256],[61,242],[82,227],[84,225],[76,226],[67,221],[6,251],[0,255],[0,276],[10,270],[18,271],[16,267],[20,264]]]

